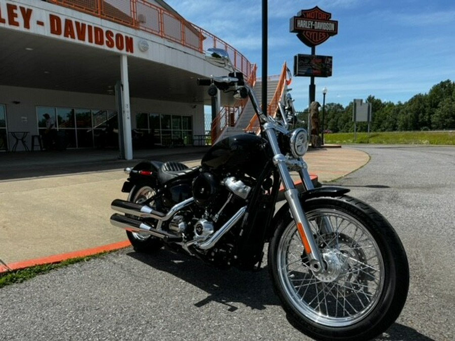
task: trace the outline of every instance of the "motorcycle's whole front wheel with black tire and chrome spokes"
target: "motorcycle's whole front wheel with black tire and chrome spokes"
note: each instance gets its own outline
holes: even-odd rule
[[[313,273],[294,220],[270,240],[274,289],[293,324],[318,340],[368,340],[384,332],[406,301],[409,268],[390,223],[354,198],[303,204],[327,271]]]

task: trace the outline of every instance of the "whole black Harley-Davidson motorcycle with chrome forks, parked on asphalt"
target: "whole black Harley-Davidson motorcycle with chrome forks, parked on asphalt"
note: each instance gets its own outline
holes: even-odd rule
[[[395,230],[348,189],[314,187],[302,158],[307,131],[288,130],[295,116],[290,96],[279,106],[282,119],[266,116],[225,51],[209,49],[206,60],[232,72],[199,84],[211,94],[216,87],[249,96],[260,136],[223,138],[193,168],[157,161],[127,168],[128,200],[112,202],[122,214],[111,223],[127,231],[136,252],[165,245],[220,268],[259,269],[268,243],[275,292],[303,333],[322,340],[379,335],[399,316],[409,285]],[[280,195],[286,201],[276,212]]]

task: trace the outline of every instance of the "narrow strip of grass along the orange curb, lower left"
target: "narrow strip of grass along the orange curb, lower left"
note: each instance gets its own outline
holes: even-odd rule
[[[25,280],[31,279],[38,275],[48,273],[55,269],[63,268],[65,266],[68,266],[71,264],[80,263],[80,262],[88,262],[89,260],[103,256],[107,253],[109,253],[109,252],[103,252],[103,253],[93,255],[93,256],[72,258],[72,259],[68,259],[68,260],[60,262],[60,263],[36,265],[36,266],[31,266],[31,267],[25,268],[25,269],[4,272],[4,273],[0,274],[0,288],[7,286],[9,284],[13,284],[13,283],[22,283]]]

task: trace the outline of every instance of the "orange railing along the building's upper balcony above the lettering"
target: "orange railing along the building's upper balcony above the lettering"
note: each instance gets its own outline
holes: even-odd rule
[[[210,47],[228,51],[237,70],[250,75],[252,64],[234,47],[206,30],[186,21],[169,8],[164,9],[146,0],[48,0],[56,5],[146,31],[195,51]]]

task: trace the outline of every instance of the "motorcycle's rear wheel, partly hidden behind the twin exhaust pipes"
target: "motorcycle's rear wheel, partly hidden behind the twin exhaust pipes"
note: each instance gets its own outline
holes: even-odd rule
[[[135,185],[129,192],[128,201],[141,204],[155,194],[155,189],[149,185]],[[154,207],[154,202],[152,202],[150,206]],[[149,233],[126,231],[126,235],[136,252],[152,253],[161,249],[163,246],[160,239]]]

